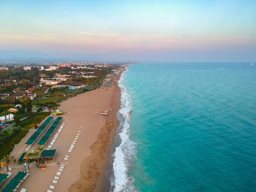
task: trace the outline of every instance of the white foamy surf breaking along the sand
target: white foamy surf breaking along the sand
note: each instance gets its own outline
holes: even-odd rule
[[[126,68],[127,70],[127,68]],[[113,192],[136,192],[138,189],[134,186],[134,178],[128,175],[128,169],[131,163],[137,159],[136,157],[136,143],[129,139],[130,133],[130,111],[131,99],[126,87],[123,84],[125,72],[122,73],[118,85],[121,89],[121,109],[120,113],[125,119],[123,130],[119,134],[121,143],[116,147],[114,153],[113,170],[115,180]],[[112,187],[111,187],[112,188]],[[112,188],[113,189],[113,188]]]

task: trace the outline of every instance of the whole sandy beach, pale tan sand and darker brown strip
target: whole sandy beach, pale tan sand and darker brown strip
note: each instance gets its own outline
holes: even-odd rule
[[[116,76],[116,79],[119,79],[119,76],[120,74]],[[111,108],[113,108],[112,111]],[[119,125],[119,121],[116,118],[119,108],[120,89],[117,82],[113,82],[110,89],[92,90],[61,102],[59,109],[64,114],[62,115],[63,119],[60,125],[62,123],[65,123],[65,125],[51,148],[57,150],[55,161],[47,162],[46,169],[44,170],[35,167],[34,163],[30,163],[30,175],[20,187],[26,188],[28,192],[38,191],[38,189],[45,192],[49,189],[50,185],[55,186],[54,191],[97,191],[104,175],[104,166],[108,162],[109,150],[114,140],[116,128]],[[108,115],[100,115],[99,111],[108,111]],[[54,116],[54,120],[56,117]],[[37,144],[38,141],[52,123],[46,128],[35,144],[32,145],[31,150],[39,146]],[[57,133],[58,128],[46,143],[45,149],[55,133]],[[18,153],[16,156],[19,158],[25,152],[24,143],[32,133],[33,130],[29,131],[29,134],[23,138],[23,143],[20,142],[15,145],[15,150],[12,153],[13,156]],[[68,149],[77,134],[80,134],[79,138],[73,151],[70,153]],[[68,160],[64,160],[66,155],[70,156]],[[52,184],[56,172],[60,168],[57,162],[64,164],[65,169],[59,176],[58,183]],[[18,166],[18,164],[11,163],[9,166]],[[23,171],[23,169],[23,164],[20,164],[16,169],[12,169],[14,174],[1,187],[5,187],[9,183],[16,174],[15,172]]]

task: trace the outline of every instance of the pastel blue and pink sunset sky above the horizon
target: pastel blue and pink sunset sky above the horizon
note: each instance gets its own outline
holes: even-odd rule
[[[256,0],[0,0],[0,59],[256,61]]]

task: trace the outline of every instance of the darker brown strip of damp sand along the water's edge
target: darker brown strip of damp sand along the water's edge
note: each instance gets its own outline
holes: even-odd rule
[[[110,111],[108,116],[105,116],[105,125],[100,129],[97,140],[90,146],[90,156],[81,163],[80,178],[69,187],[69,192],[97,192],[101,189],[102,179],[105,176],[105,167],[108,163],[111,146],[114,143],[116,129],[119,126],[116,114],[121,105],[121,90],[117,81],[122,73],[118,74],[116,82],[113,83],[114,91],[110,102],[110,108],[113,108],[113,110]],[[95,187],[93,188],[93,186]]]

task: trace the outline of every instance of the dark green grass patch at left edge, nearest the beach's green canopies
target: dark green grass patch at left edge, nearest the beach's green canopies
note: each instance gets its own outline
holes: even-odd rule
[[[14,132],[14,134],[11,137],[9,137],[8,140],[6,140],[4,142],[4,145],[0,145],[0,158],[3,158],[3,156],[5,156],[5,155],[9,155],[10,152],[12,151],[12,148],[14,148],[14,145],[18,144],[20,142],[20,140],[23,137],[25,137],[26,134],[29,132],[28,129],[18,129],[18,131],[16,131],[16,132],[13,129],[3,131],[3,133],[2,133],[5,135],[5,138],[6,138],[6,136],[10,136],[9,135],[10,131]],[[4,140],[4,137],[1,136],[2,134],[0,134],[0,143],[1,143],[1,140],[2,141]]]

